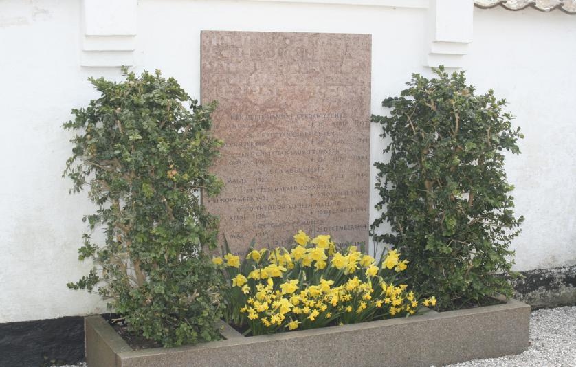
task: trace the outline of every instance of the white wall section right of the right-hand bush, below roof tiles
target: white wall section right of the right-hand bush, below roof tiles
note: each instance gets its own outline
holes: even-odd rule
[[[468,80],[506,98],[525,135],[508,155],[516,269],[576,265],[576,16],[498,8],[474,12]]]

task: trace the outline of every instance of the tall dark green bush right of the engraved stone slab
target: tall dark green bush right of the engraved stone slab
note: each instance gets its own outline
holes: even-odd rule
[[[486,296],[511,296],[511,240],[523,218],[513,214],[503,150],[519,154],[520,128],[502,112],[493,91],[475,96],[463,72],[443,67],[437,78],[413,74],[400,97],[382,103],[389,117],[373,116],[392,142],[390,162],[376,162],[376,188],[386,211],[371,226],[376,241],[410,260],[408,272],[425,296],[453,308]],[[388,221],[392,234],[377,235]]]

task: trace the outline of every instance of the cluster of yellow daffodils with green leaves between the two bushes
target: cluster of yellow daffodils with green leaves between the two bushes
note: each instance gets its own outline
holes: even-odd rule
[[[413,315],[420,305],[408,285],[397,280],[408,267],[395,250],[377,261],[357,247],[336,252],[329,235],[312,240],[302,232],[290,248],[225,254],[212,261],[230,280],[226,321],[252,335],[312,329]]]

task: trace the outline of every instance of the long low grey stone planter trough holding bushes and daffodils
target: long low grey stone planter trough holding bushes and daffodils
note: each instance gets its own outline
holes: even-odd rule
[[[89,367],[430,366],[518,354],[528,347],[530,306],[504,304],[243,337],[223,324],[225,340],[133,351],[100,316],[85,318]]]

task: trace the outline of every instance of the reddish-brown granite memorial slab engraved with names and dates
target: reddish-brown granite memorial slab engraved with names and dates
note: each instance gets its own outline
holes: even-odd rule
[[[299,229],[367,244],[370,47],[368,34],[202,32],[225,183],[204,202],[233,251],[289,245]]]

